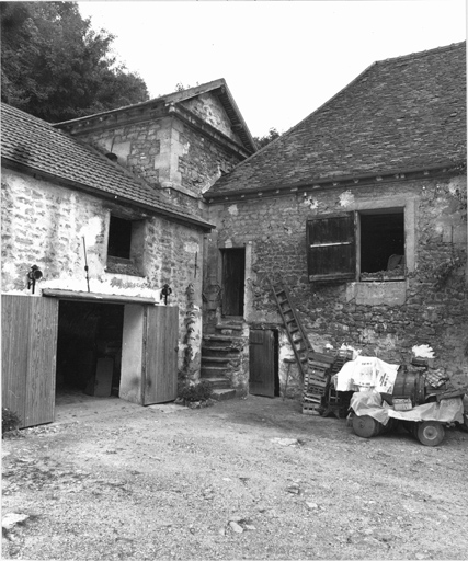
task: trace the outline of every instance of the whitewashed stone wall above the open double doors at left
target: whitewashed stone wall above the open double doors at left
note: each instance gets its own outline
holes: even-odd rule
[[[109,216],[115,210],[146,220],[145,276],[105,271]],[[34,264],[44,274],[36,285],[37,296],[43,288],[87,291],[84,237],[91,291],[159,300],[160,288],[165,283],[171,286],[169,304],[180,310],[179,364],[184,364],[190,343],[190,370],[199,375],[202,275],[195,270],[195,262],[199,267],[203,260],[199,230],[5,169],[1,211],[3,294],[31,294],[26,274]],[[187,341],[190,285],[193,331]]]

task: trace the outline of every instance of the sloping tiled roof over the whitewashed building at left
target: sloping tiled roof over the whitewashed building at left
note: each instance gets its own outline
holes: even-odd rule
[[[133,203],[203,228],[209,227],[98,150],[4,103],[1,104],[1,156],[37,173],[113,196],[116,202]]]

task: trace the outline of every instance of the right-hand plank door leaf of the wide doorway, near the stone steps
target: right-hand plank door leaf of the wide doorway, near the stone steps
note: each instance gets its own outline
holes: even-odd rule
[[[164,403],[178,397],[179,308],[146,308],[142,404]]]

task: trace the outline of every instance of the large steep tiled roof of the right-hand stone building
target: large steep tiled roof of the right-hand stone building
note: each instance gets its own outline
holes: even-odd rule
[[[466,43],[374,62],[205,194],[466,160]]]

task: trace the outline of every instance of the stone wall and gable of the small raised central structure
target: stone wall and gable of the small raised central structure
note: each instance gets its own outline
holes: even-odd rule
[[[203,94],[182,104],[196,117],[216,128],[231,141],[240,144],[231,130],[230,121],[219,100]],[[119,117],[115,125],[103,123],[75,131],[83,141],[100,151],[113,152],[118,163],[141,176],[155,188],[162,188],[171,199],[195,213],[202,213],[201,195],[228,173],[244,157],[228,147],[228,142],[202,133],[174,114],[146,116],[140,122],[125,124]]]

